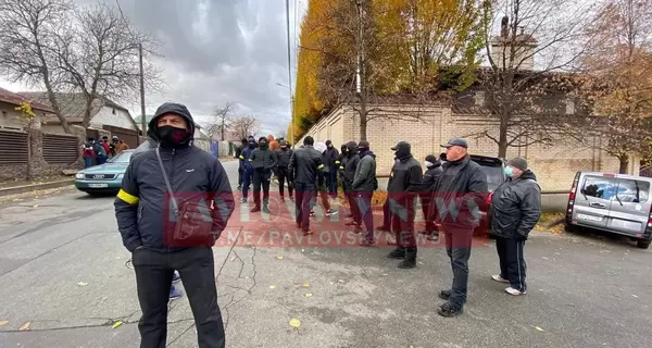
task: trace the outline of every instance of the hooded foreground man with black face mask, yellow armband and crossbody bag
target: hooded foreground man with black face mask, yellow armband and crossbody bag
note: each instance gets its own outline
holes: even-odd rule
[[[212,247],[234,212],[234,195],[222,163],[192,146],[193,133],[185,105],[159,107],[148,132],[156,146],[129,162],[114,202],[136,273],[142,347],[165,346],[167,323],[161,319],[175,270],[199,327],[198,345],[225,346]]]

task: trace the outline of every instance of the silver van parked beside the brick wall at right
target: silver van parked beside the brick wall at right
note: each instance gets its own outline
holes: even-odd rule
[[[652,178],[577,172],[568,196],[566,231],[594,228],[631,237],[648,249],[652,239]]]

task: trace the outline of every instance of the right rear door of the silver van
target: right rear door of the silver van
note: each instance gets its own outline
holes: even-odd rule
[[[630,236],[645,233],[650,214],[650,182],[644,178],[617,177],[606,223],[610,231]]]

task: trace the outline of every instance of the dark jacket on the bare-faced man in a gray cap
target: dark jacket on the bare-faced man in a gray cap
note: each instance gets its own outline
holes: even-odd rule
[[[441,165],[442,172],[435,186],[430,216],[443,225],[474,228],[480,221],[480,209],[489,195],[487,174],[479,164],[466,157]]]

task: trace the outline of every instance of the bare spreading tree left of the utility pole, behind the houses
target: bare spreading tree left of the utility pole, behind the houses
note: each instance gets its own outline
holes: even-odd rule
[[[163,87],[161,71],[150,58],[160,42],[136,30],[122,13],[103,2],[76,11],[78,28],[59,36],[58,63],[67,83],[86,101],[84,127],[92,110],[105,99],[135,102],[140,89],[139,45],[143,51],[145,83],[148,89]]]

